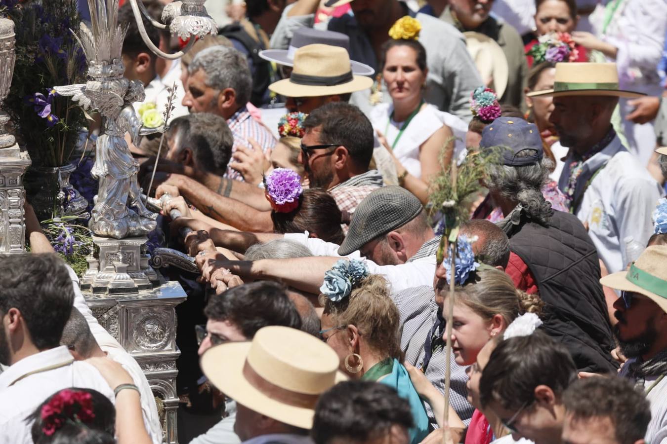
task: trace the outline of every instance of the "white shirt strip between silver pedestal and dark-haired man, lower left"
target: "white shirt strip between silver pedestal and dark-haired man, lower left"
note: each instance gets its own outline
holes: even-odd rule
[[[151,437],[153,444],[161,444],[163,437],[162,426],[159,415],[157,414],[155,395],[153,395],[151,385],[148,383],[148,380],[143,374],[143,371],[141,371],[141,367],[139,367],[137,361],[125,351],[125,349],[109,334],[109,332],[107,332],[107,330],[105,330],[105,328],[99,325],[99,322],[97,322],[97,319],[93,316],[93,312],[86,304],[83,294],[81,294],[81,290],[79,290],[79,278],[77,278],[76,273],[69,268],[69,266],[67,266],[67,269],[69,270],[69,276],[72,279],[74,287],[75,308],[81,312],[88,322],[88,326],[95,337],[95,341],[97,341],[97,345],[107,353],[109,358],[123,366],[125,371],[132,377],[134,385],[139,388],[143,425]]]

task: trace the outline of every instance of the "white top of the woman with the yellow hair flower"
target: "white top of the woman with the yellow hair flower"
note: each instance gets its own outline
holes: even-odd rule
[[[370,121],[376,130],[380,130],[387,139],[389,146],[394,144],[404,122],[390,120],[394,106],[389,103],[380,103],[370,112]],[[410,174],[416,178],[422,177],[422,163],[420,162],[420,147],[434,132],[448,126],[456,138],[454,140],[454,158],[459,158],[466,150],[466,133],[468,124],[449,112],[438,110],[433,105],[427,105],[414,116],[401,137],[394,146],[394,154]]]

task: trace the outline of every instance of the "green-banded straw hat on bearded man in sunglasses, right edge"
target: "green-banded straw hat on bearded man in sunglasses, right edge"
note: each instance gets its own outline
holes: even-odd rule
[[[600,284],[643,294],[667,313],[667,246],[647,247],[630,270],[604,276]]]

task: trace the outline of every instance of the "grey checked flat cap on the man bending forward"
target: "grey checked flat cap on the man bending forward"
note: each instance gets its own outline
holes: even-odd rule
[[[378,188],[354,210],[350,230],[338,248],[338,254],[347,256],[360,250],[378,236],[404,226],[423,210],[422,202],[400,186]]]

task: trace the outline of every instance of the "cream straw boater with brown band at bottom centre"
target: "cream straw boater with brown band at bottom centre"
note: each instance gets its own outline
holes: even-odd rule
[[[323,392],[348,379],[340,361],[317,337],[293,328],[261,328],[251,342],[208,349],[201,369],[237,403],[281,423],[310,429]]]

